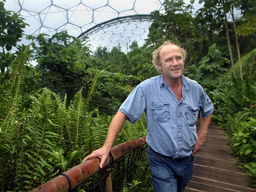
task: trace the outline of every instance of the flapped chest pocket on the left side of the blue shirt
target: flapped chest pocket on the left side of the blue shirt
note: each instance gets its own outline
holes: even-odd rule
[[[152,118],[156,123],[168,123],[170,117],[170,104],[168,102],[151,102]]]

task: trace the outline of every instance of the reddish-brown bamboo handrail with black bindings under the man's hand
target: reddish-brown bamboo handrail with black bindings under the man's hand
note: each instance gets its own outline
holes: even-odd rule
[[[103,168],[108,167],[114,161],[130,153],[134,149],[145,145],[147,143],[145,139],[146,136],[112,147],[110,154],[112,154],[113,158],[112,156],[109,156]],[[99,158],[89,159],[88,161],[74,166],[68,171],[62,173],[61,175],[58,175],[57,177],[47,181],[45,184],[37,187],[31,192],[70,192],[72,189],[74,189],[78,185],[81,185],[83,182],[101,171],[103,168],[100,168]],[[107,183],[111,185],[111,180]],[[111,191],[111,186],[107,186],[107,189],[109,189],[107,191]]]

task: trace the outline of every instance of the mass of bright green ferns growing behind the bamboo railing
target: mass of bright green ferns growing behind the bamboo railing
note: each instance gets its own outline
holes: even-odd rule
[[[31,96],[31,105],[25,108],[22,93],[29,56],[27,47],[9,67],[10,80],[0,95],[5,101],[0,110],[2,191],[29,191],[80,164],[89,152],[102,146],[111,121],[111,116],[98,109],[89,110],[103,71],[95,75],[88,97],[78,91],[68,108],[66,97],[62,100],[48,88]],[[142,121],[126,123],[115,145],[142,137],[145,130]]]

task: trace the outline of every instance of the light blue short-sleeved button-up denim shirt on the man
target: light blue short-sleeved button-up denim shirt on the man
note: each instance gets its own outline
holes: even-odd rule
[[[154,151],[165,156],[190,156],[197,143],[196,121],[213,113],[213,103],[196,81],[181,76],[182,99],[178,102],[162,75],[137,85],[119,108],[135,123],[145,112],[146,141]]]

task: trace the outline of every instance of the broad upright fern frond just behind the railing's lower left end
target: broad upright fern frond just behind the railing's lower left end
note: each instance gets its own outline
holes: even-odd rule
[[[30,117],[33,121],[29,121],[27,135],[30,134],[32,138],[27,140],[30,145],[26,146],[26,152],[23,154],[23,159],[29,159],[29,170],[31,170],[30,179],[28,183],[28,190],[33,187],[35,181],[45,180],[47,171],[51,170],[52,166],[47,163],[47,156],[45,156],[45,149],[52,150],[52,147],[56,145],[58,140],[62,137],[55,133],[55,127],[58,125],[55,123],[55,110],[56,101],[54,94],[48,89],[43,89],[41,94],[37,94],[33,97],[33,102],[30,110]],[[33,126],[32,126],[33,125]],[[23,138],[24,139],[24,138]],[[24,160],[23,160],[24,161]],[[27,161],[25,161],[27,162]]]

